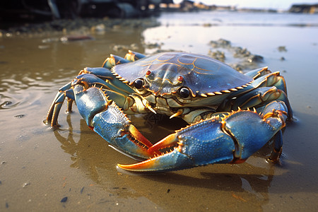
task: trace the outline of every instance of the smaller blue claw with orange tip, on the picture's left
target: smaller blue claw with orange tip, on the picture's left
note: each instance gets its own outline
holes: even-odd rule
[[[87,90],[76,85],[73,88],[78,112],[86,123],[116,150],[133,158],[148,159],[153,153],[148,153],[152,143],[148,141],[126,114],[100,88]]]

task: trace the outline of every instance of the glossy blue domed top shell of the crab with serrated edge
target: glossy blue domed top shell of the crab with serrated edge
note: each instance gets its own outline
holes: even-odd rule
[[[193,96],[230,93],[253,80],[216,59],[184,52],[144,57],[114,66],[112,72],[131,87],[143,78],[144,88],[155,95],[176,93],[181,87],[189,88]]]

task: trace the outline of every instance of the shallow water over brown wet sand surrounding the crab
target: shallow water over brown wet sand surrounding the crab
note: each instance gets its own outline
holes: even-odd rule
[[[318,17],[204,12],[158,20],[163,24],[155,28],[114,28],[77,42],[0,38],[0,211],[317,211]],[[240,165],[127,175],[116,165],[134,160],[108,147],[76,109],[61,112],[60,129],[42,123],[57,90],[78,71],[100,66],[111,53],[124,56],[114,45],[135,43],[146,54],[158,46],[208,54],[208,43],[219,38],[261,55],[257,65],[281,71],[287,81],[295,121],[283,135],[280,165],[266,163],[265,146]],[[232,55],[221,50],[231,63]],[[134,120],[152,141],[179,127],[153,116]]]

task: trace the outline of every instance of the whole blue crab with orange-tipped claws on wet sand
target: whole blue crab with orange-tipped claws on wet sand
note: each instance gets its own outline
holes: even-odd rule
[[[243,74],[216,59],[185,52],[111,54],[102,67],[83,69],[59,89],[47,124],[59,126],[66,98],[67,111],[75,101],[90,129],[117,151],[142,160],[118,164],[134,172],[243,163],[269,141],[269,161],[275,163],[282,151],[282,129],[293,118],[278,71],[264,67]],[[148,112],[189,125],[153,144],[126,116]]]

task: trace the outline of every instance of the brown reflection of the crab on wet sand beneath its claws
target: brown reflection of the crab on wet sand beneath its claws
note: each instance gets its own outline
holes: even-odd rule
[[[134,119],[140,120],[137,125],[143,134],[151,134],[151,131],[157,132],[158,129],[164,132],[163,134],[169,134],[171,131],[167,129],[167,124],[160,125],[163,123],[158,122],[160,117],[156,117],[156,121],[151,124],[147,124],[149,121],[145,117]],[[202,204],[202,196],[198,196],[198,192],[209,198],[209,201],[204,203],[208,208],[220,201],[225,205],[252,203],[255,209],[260,210],[261,206],[269,202],[269,188],[275,176],[276,165],[267,164],[265,161],[266,155],[271,151],[268,146],[251,158],[251,162],[256,165],[208,165],[158,175],[127,175],[125,172],[117,172],[115,167],[117,163],[134,163],[134,160],[109,148],[100,136],[88,129],[83,119],[79,131],[73,127],[71,114],[67,115],[67,124],[67,129],[56,129],[54,135],[61,143],[61,148],[71,155],[71,167],[79,168],[109,192],[114,192],[114,187],[125,188],[124,192],[115,192],[119,197],[145,196],[163,208],[169,205],[167,209],[171,209],[171,206],[182,208],[184,201]],[[177,195],[184,192],[187,195]],[[175,197],[171,198],[171,195]],[[220,195],[223,195],[222,199]],[[228,199],[224,199],[224,196],[228,196]]]

